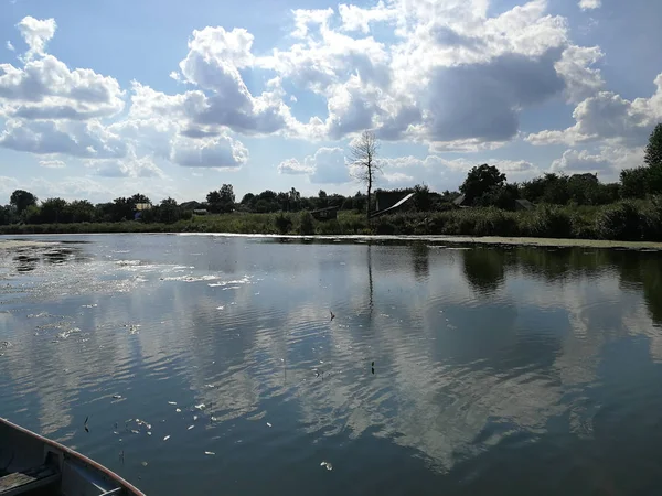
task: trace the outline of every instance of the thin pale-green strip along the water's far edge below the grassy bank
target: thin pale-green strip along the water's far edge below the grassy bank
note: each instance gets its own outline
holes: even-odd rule
[[[277,235],[277,234],[239,234],[239,233],[72,233],[72,234],[24,234],[1,235],[0,249],[19,249],[30,247],[53,246],[57,241],[41,241],[26,238],[32,237],[63,237],[63,236],[109,236],[109,235],[147,235],[147,236],[217,236],[242,237],[261,239],[299,239],[322,241],[427,241],[447,242],[456,245],[509,245],[533,246],[547,248],[600,248],[600,249],[629,249],[629,250],[662,250],[662,242],[654,241],[615,241],[602,239],[569,239],[569,238],[531,238],[506,236],[450,236],[450,235]]]

